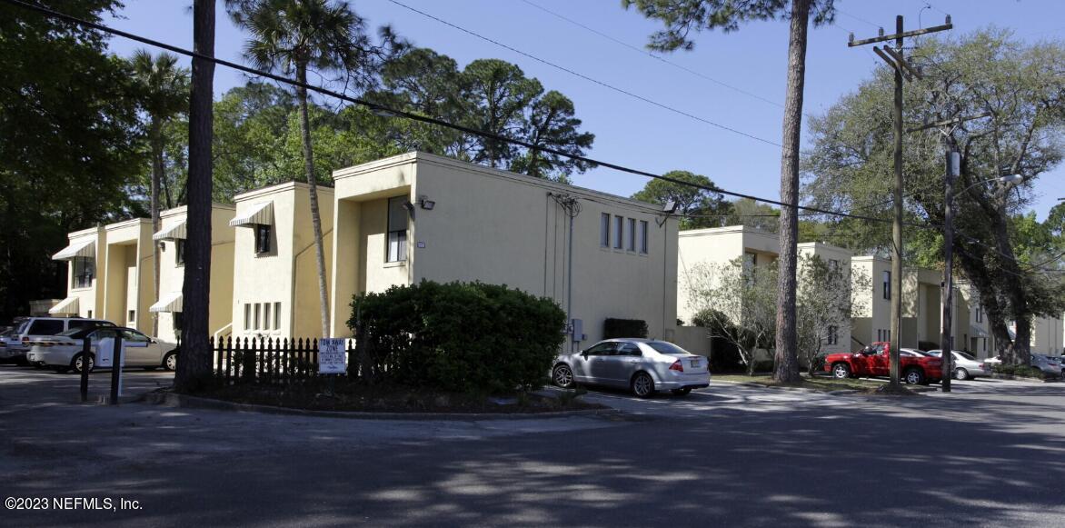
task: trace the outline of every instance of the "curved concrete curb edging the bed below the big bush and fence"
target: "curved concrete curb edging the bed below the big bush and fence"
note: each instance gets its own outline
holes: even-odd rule
[[[213,398],[201,398],[185,394],[151,392],[144,394],[140,401],[153,405],[184,409],[211,409],[215,411],[256,412],[262,414],[288,414],[295,416],[312,416],[321,418],[350,419],[406,419],[406,420],[462,420],[474,422],[484,419],[540,419],[564,418],[571,416],[616,416],[622,414],[617,409],[586,409],[579,411],[552,411],[542,413],[396,413],[396,412],[358,412],[358,411],[312,411],[305,409],[289,409],[284,407],[260,406],[253,403],[236,403]]]

